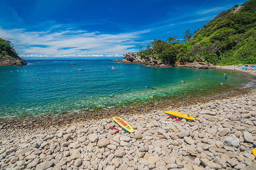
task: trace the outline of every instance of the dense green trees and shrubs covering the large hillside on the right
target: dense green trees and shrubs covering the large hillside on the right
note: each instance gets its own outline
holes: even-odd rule
[[[218,65],[256,63],[256,0],[219,13],[193,34],[186,30],[182,42],[176,37],[155,39],[137,54],[155,55],[163,63],[198,58]]]

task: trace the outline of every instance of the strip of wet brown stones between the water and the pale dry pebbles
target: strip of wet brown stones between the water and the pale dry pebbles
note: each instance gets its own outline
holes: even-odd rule
[[[253,82],[256,85],[256,81]],[[238,98],[244,95],[256,94],[255,87],[239,87],[231,89],[230,91],[225,91],[221,93],[216,93],[214,95],[209,94],[203,97],[194,97],[187,99],[169,100],[162,102],[148,102],[139,105],[123,106],[123,107],[111,107],[106,109],[96,109],[96,110],[85,110],[83,112],[70,112],[63,113],[62,115],[33,115],[24,117],[2,117],[0,129],[11,128],[16,130],[22,129],[44,129],[53,126],[65,126],[67,124],[72,124],[76,122],[88,122],[90,120],[100,120],[105,118],[111,118],[118,115],[140,115],[143,113],[148,113],[152,110],[168,110],[168,109],[178,109],[179,107],[192,107],[193,105],[208,103],[215,100],[223,100],[229,98]],[[228,97],[227,97],[228,96]]]

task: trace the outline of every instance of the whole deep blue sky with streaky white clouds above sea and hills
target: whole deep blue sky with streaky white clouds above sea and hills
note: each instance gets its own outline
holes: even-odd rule
[[[182,39],[239,0],[0,0],[0,38],[24,59],[119,58]]]

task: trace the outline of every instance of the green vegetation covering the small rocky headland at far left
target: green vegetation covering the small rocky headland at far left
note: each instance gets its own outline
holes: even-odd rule
[[[11,41],[0,38],[0,57],[20,58],[11,44]]]

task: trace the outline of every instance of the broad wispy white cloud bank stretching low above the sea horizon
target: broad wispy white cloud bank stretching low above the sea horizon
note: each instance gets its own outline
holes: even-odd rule
[[[135,52],[140,35],[148,30],[102,34],[84,30],[65,30],[52,32],[28,32],[25,29],[5,30],[0,27],[1,38],[12,41],[20,57],[103,57],[113,53]],[[112,55],[123,56],[123,55]]]

